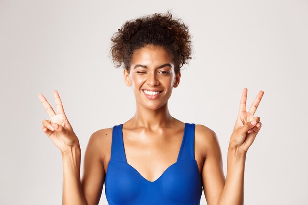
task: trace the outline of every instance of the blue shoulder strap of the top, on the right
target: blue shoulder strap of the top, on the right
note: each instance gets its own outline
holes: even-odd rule
[[[181,145],[181,150],[177,161],[180,160],[194,160],[195,159],[195,124],[187,123],[186,130],[184,132],[183,145]]]

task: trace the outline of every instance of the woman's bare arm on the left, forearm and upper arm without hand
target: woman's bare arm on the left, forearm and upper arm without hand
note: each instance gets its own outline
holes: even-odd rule
[[[63,205],[98,205],[105,180],[99,132],[91,135],[84,158],[84,174],[80,180],[80,148],[62,154]]]

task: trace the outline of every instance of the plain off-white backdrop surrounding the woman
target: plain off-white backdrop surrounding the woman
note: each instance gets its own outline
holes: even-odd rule
[[[122,24],[170,10],[189,26],[194,59],[169,100],[173,117],[218,136],[226,173],[243,88],[263,127],[246,157],[246,205],[308,204],[307,0],[0,0],[0,204],[62,204],[60,151],[41,131],[58,90],[83,156],[90,135],[133,116],[109,58]],[[100,205],[107,205],[105,189]],[[202,195],[201,204],[205,205]]]

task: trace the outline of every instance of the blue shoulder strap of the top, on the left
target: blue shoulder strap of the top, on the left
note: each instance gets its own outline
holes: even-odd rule
[[[112,128],[110,161],[122,161],[127,163],[122,135],[122,124],[115,125]]]

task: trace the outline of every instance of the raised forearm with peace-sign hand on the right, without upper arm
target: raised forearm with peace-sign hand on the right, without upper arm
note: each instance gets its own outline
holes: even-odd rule
[[[261,129],[260,117],[253,117],[264,94],[259,91],[246,111],[247,88],[243,89],[240,109],[228,148],[227,179],[218,205],[244,204],[244,168],[246,153]]]

